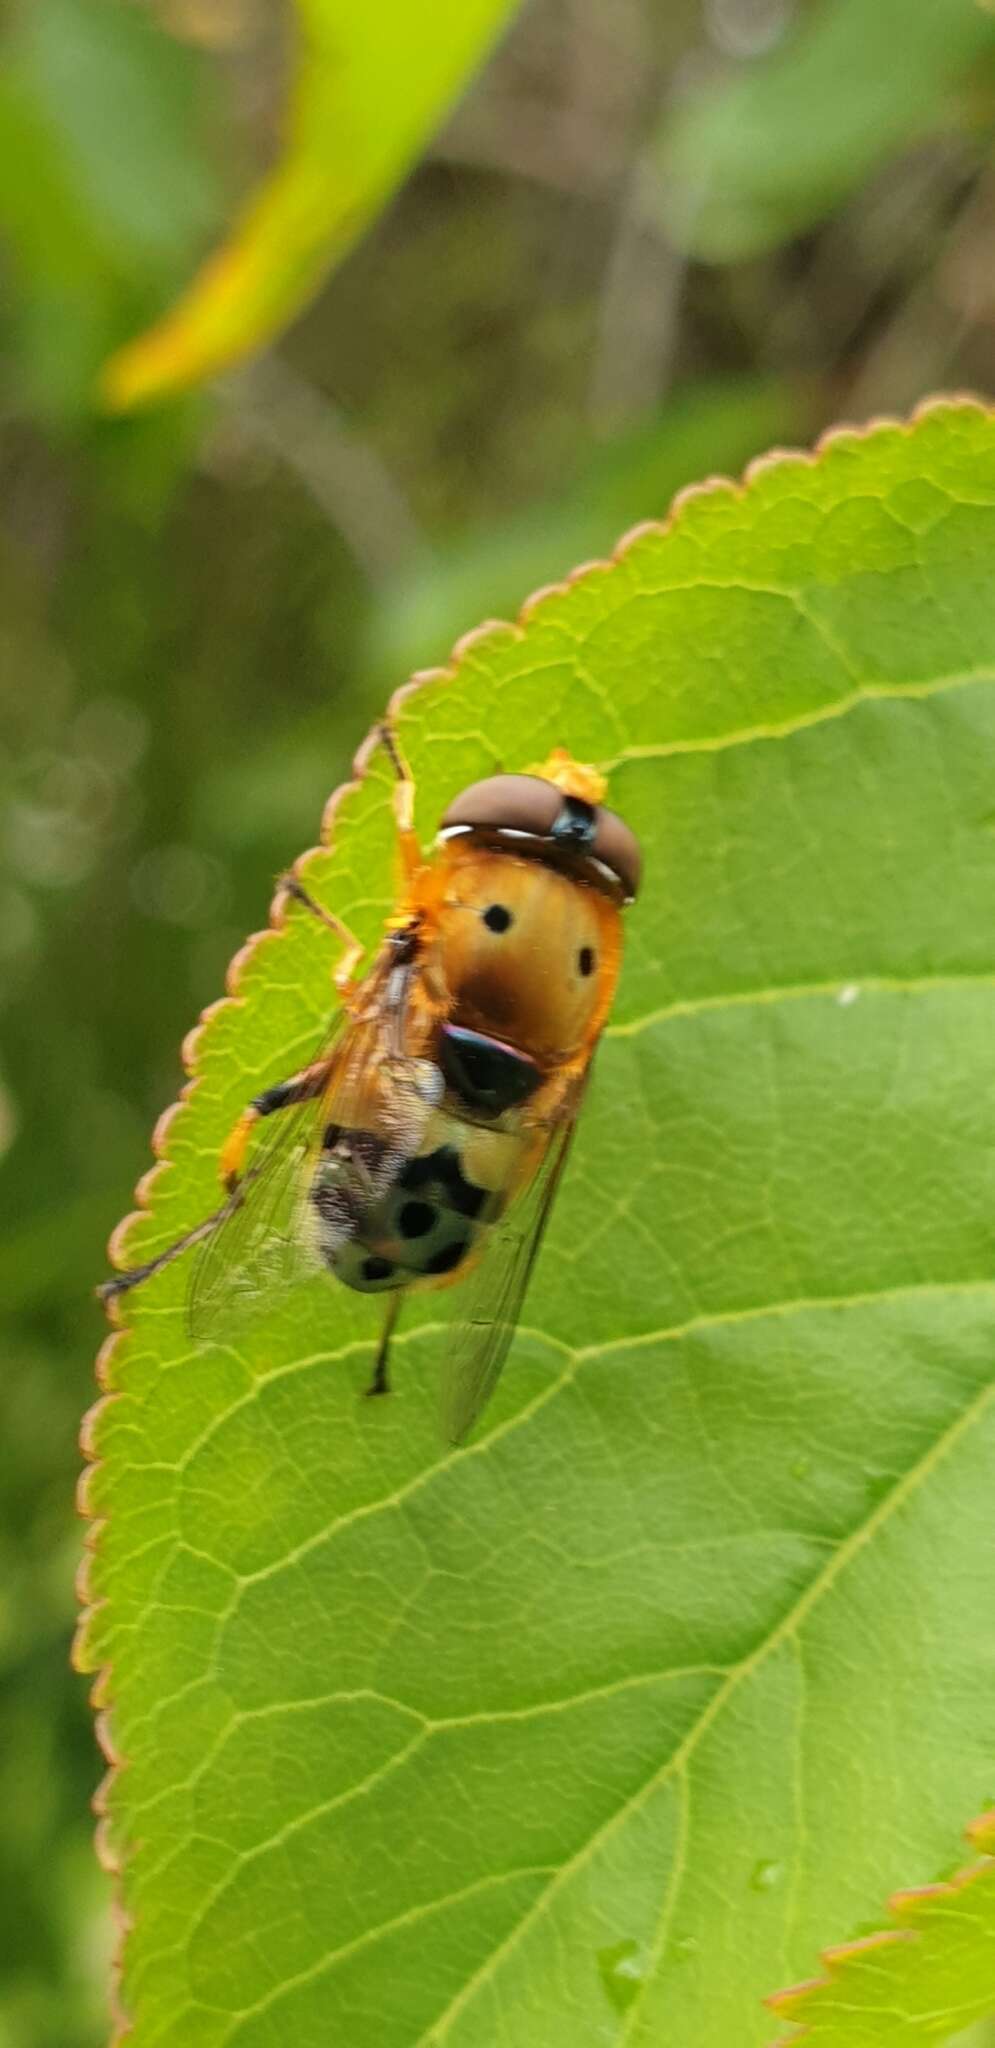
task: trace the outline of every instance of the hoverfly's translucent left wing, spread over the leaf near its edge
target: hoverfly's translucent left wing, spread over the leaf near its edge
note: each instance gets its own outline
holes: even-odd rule
[[[190,1276],[186,1321],[194,1341],[223,1337],[276,1300],[323,1272],[309,1217],[309,1192],[326,1130],[348,1126],[364,1079],[377,1075],[377,1104],[389,1120],[393,1157],[418,1141],[428,1114],[416,1063],[387,1055],[387,1044],[403,1042],[407,983],[397,991],[387,971],[373,971],[371,999],[358,1020],[346,1012],[319,1049],[313,1067],[328,1061],[328,1081],[315,1096],[274,1112],[260,1124],[240,1188],[205,1239]],[[356,1212],[366,1194],[364,1167],[348,1157],[338,1165],[352,1188]],[[350,1180],[352,1176],[352,1180]]]

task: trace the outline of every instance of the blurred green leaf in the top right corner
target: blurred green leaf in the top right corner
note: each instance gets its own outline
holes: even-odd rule
[[[897,59],[901,51],[901,61]],[[782,47],[708,84],[661,137],[661,209],[712,262],[825,219],[909,143],[956,123],[995,51],[979,0],[821,0]]]

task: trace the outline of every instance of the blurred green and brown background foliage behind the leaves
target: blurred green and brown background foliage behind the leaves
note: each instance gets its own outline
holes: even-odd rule
[[[106,2038],[88,1290],[274,872],[483,616],[772,442],[995,385],[989,8],[528,0],[289,332],[100,412],[278,162],[315,10],[346,0],[0,31],[0,2048]]]

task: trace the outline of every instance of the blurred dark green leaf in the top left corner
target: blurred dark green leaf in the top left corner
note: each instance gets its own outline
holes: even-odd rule
[[[16,362],[47,414],[92,406],[106,350],[176,291],[217,223],[197,123],[203,82],[192,51],[125,0],[14,12],[0,72],[0,225],[20,287]]]

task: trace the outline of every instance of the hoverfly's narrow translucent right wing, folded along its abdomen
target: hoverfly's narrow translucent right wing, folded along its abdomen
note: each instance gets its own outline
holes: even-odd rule
[[[588,1069],[590,1071],[590,1069]],[[567,1163],[588,1073],[573,1104],[508,1217],[493,1227],[477,1268],[467,1276],[467,1319],[452,1331],[442,1362],[442,1432],[459,1444],[487,1407],[522,1313],[532,1266]]]

